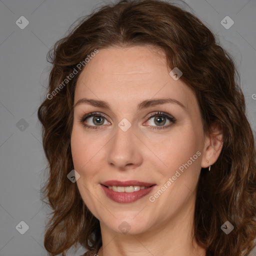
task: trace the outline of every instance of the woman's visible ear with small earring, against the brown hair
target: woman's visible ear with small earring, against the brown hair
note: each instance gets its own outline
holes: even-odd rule
[[[207,168],[218,158],[223,146],[223,135],[221,130],[214,126],[209,135],[204,137],[204,148],[201,160],[201,167]]]

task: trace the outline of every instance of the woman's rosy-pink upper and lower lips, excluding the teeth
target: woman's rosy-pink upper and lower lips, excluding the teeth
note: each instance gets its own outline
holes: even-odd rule
[[[138,180],[127,180],[127,181],[118,181],[118,180],[108,180],[106,182],[103,182],[100,184],[102,189],[105,192],[105,195],[115,201],[115,202],[119,202],[119,203],[128,203],[128,202],[134,202],[142,197],[144,197],[145,195],[147,195],[154,187],[155,184],[152,183],[147,183],[147,182],[140,182]],[[117,192],[117,191],[113,191],[112,189],[109,189],[106,186],[130,186],[130,185],[137,185],[137,186],[149,186],[147,188],[144,189],[140,189],[138,191],[134,191],[134,192]]]

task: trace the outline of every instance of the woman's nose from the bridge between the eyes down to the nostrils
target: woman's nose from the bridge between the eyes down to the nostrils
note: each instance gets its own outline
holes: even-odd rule
[[[107,162],[120,169],[128,164],[139,165],[142,156],[135,140],[133,127],[126,120],[121,120],[114,129],[114,136],[108,147]]]

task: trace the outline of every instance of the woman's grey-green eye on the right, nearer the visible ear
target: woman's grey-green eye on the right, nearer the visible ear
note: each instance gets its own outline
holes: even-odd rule
[[[170,125],[172,125],[173,123],[175,123],[175,121],[176,121],[176,119],[173,116],[171,116],[167,113],[164,113],[164,112],[151,113],[147,118],[148,118],[147,122],[149,122],[149,128],[151,128],[151,129],[167,128]],[[150,119],[152,119],[152,120],[150,120]],[[167,122],[169,122],[168,125],[164,125],[166,123],[166,120],[167,120]],[[156,124],[156,126],[154,126],[154,124]]]

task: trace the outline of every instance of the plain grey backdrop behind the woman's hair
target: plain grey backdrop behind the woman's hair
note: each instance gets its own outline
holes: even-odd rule
[[[185,2],[235,58],[255,132],[256,0]],[[78,17],[102,4],[101,0],[0,0],[0,256],[47,254],[43,231],[49,209],[39,193],[47,170],[36,116],[50,70],[46,53]],[[234,21],[229,29],[221,24],[226,15]],[[29,21],[24,29],[15,23],[20,16]],[[24,234],[15,229],[20,221],[29,226]]]

